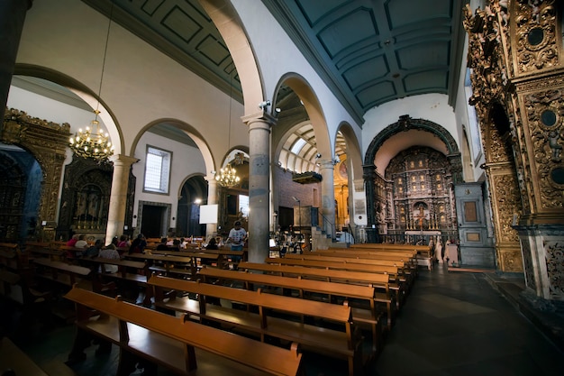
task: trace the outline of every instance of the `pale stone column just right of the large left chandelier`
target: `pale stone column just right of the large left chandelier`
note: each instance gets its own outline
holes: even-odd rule
[[[114,236],[123,234],[129,172],[132,164],[139,161],[137,158],[123,154],[113,155],[110,160],[114,163],[114,174],[108,208],[108,225],[105,229],[106,243],[109,243]]]

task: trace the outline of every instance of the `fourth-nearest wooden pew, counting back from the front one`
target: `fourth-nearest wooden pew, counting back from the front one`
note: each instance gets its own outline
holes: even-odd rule
[[[390,282],[389,276],[384,273],[368,273],[359,271],[339,271],[321,268],[308,268],[301,266],[276,265],[256,262],[240,262],[240,271],[266,271],[270,274],[307,280],[325,280],[328,282],[344,283],[348,285],[363,285],[376,288],[374,299],[386,305],[387,328],[391,329],[396,310],[399,304],[390,290],[399,291],[396,283]]]

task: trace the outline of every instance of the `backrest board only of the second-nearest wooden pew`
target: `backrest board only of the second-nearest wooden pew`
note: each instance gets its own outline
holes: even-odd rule
[[[177,280],[157,275],[152,275],[148,283],[156,288],[181,290],[205,297],[223,298],[251,306],[270,308],[292,314],[299,313],[305,316],[316,316],[334,322],[351,322],[350,307],[344,305],[337,306],[314,300],[265,294],[260,290],[233,289],[202,283],[200,281]]]

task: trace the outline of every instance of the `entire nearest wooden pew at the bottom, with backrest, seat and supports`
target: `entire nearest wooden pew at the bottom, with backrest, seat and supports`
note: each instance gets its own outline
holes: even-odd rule
[[[65,296],[76,303],[77,337],[73,351],[86,348],[90,335],[120,349],[117,376],[129,375],[137,359],[180,375],[298,375],[297,345],[284,349],[261,344],[209,326],[135,306],[84,289]],[[86,341],[85,341],[86,339]],[[157,374],[146,366],[145,373]],[[150,371],[147,371],[148,368]]]

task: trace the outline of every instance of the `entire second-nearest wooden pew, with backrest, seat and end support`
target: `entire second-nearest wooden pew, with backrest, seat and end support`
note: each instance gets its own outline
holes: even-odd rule
[[[261,342],[268,338],[297,342],[316,353],[329,353],[347,359],[350,376],[362,374],[362,341],[353,333],[350,307],[346,305],[338,306],[267,294],[260,290],[234,289],[156,275],[151,276],[149,283],[155,289],[155,305],[159,307],[184,312],[199,317],[202,322],[215,322],[230,330],[257,336]],[[177,298],[177,291],[197,294],[198,300]],[[222,307],[210,303],[210,299],[223,299],[224,302],[235,302],[247,308]],[[277,315],[273,315],[274,312]],[[304,317],[332,323],[332,328],[305,324],[303,320],[296,319]]]

